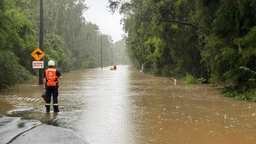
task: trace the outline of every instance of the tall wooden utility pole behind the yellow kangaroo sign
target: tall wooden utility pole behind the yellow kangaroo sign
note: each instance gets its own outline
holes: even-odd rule
[[[39,48],[44,51],[43,48],[43,20],[44,20],[44,8],[43,8],[43,0],[40,0],[40,30],[39,30]],[[43,61],[43,58],[42,58]],[[38,77],[39,77],[39,84],[43,84],[43,70],[38,69]]]

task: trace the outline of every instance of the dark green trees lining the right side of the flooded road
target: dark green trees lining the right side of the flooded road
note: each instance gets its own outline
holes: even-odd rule
[[[124,15],[134,66],[143,64],[155,76],[185,77],[188,72],[203,83],[224,87],[227,96],[254,101],[255,0],[108,2],[111,12]]]

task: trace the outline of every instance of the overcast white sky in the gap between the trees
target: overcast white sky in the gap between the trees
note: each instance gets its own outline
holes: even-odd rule
[[[87,15],[84,15],[85,19],[98,25],[102,33],[111,35],[114,42],[121,40],[124,33],[120,25],[122,16],[118,12],[114,15],[108,12],[106,8],[108,0],[86,0],[85,3],[89,7],[85,11]]]

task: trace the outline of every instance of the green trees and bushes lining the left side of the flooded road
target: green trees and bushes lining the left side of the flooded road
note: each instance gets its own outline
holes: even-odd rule
[[[30,74],[37,74],[32,68],[34,59],[30,54],[39,45],[39,6],[39,0],[0,1],[1,72],[6,74],[2,75],[1,90],[14,83],[23,83]],[[101,34],[96,24],[85,21],[83,13],[87,9],[85,0],[44,1],[43,51],[46,56],[42,60],[46,67],[49,60],[54,60],[61,72],[80,69],[84,60],[90,68],[99,66],[101,35],[103,65],[110,65],[113,40]]]

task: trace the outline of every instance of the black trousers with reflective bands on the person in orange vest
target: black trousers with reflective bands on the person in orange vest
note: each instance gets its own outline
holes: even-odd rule
[[[46,86],[46,107],[50,107],[51,97],[53,101],[53,108],[58,108],[58,86]]]

